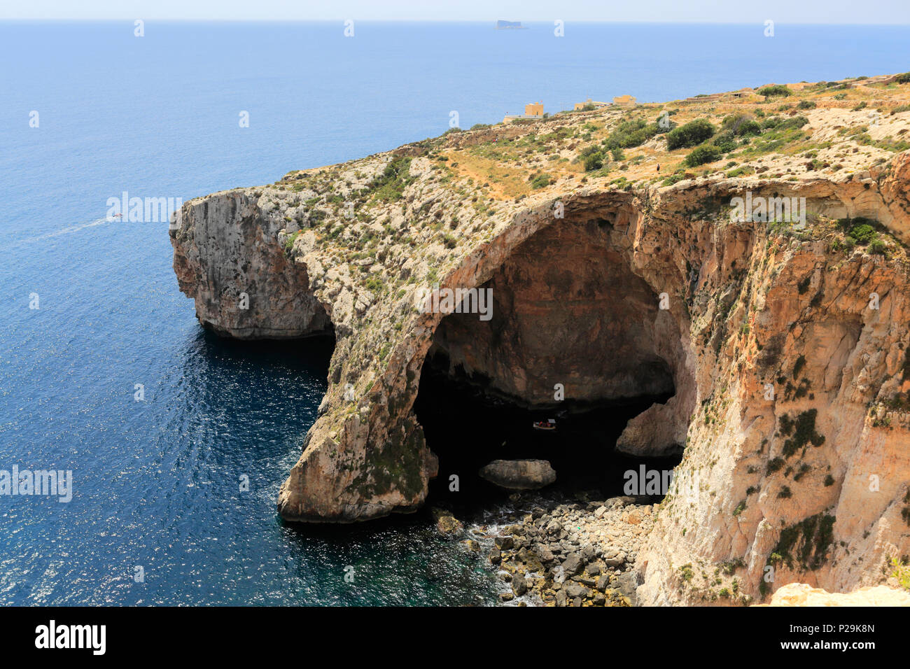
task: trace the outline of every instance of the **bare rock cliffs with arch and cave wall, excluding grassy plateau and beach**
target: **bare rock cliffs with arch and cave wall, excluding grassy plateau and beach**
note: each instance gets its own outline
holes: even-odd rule
[[[566,176],[505,198],[458,167],[490,132],[184,206],[175,269],[200,322],[241,338],[335,332],[281,515],[354,522],[420,506],[440,463],[412,407],[428,352],[444,350],[529,404],[552,403],[555,384],[572,400],[673,393],[617,445],[684,448],[677,479],[694,481],[660,505],[641,603],[884,580],[885,559],[910,553],[910,156],[669,186]],[[809,224],[733,222],[747,192],[806,198]],[[854,217],[877,222],[884,255],[844,247],[835,219]],[[422,312],[420,289],[435,285],[492,289],[492,318]]]

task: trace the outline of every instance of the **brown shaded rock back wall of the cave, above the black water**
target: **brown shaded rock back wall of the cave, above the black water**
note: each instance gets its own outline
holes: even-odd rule
[[[615,212],[597,213],[541,228],[517,246],[480,286],[493,299],[489,320],[441,320],[433,341],[453,370],[537,406],[557,403],[557,383],[582,401],[672,394],[667,360],[680,357],[679,329],[659,318],[657,293],[611,239]]]

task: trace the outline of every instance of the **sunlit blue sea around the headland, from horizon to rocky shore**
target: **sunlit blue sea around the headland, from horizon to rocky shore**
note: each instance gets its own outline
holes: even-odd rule
[[[492,601],[421,518],[280,522],[330,344],[203,332],[167,225],[107,222],[107,198],[272,182],[439,135],[452,111],[910,70],[906,26],[763,29],[0,23],[0,470],[75,477],[72,502],[0,497],[0,603]]]

